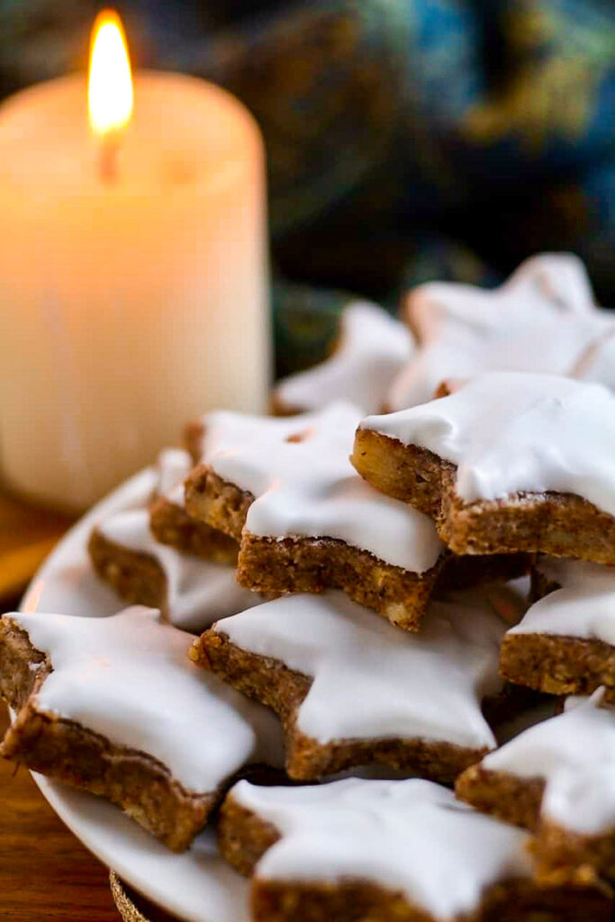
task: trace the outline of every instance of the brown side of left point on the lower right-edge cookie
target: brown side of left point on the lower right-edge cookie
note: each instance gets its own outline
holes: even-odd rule
[[[455,781],[455,795],[503,822],[531,831],[538,826],[545,782],[542,778],[518,778],[506,772],[490,772],[471,765]]]

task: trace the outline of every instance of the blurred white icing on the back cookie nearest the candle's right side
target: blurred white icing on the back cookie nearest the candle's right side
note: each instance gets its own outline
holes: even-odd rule
[[[280,381],[275,395],[291,411],[348,400],[363,413],[377,413],[413,350],[413,337],[405,325],[371,301],[353,301],[342,313],[334,355]]]

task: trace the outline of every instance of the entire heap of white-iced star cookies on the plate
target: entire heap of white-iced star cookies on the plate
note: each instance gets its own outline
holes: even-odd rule
[[[615,320],[564,255],[404,320],[126,491],[89,555],[134,607],[4,616],[2,753],[215,823],[256,922],[607,922]]]

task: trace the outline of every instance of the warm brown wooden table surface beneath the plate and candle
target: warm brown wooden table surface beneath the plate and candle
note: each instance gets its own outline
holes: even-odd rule
[[[18,598],[72,519],[37,509],[0,488],[0,613]],[[0,739],[8,715],[0,701]],[[150,922],[173,922],[129,893]],[[109,870],[55,815],[24,768],[0,759],[0,920],[121,922]]]

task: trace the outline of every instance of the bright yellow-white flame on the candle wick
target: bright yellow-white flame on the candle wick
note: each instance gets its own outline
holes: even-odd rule
[[[92,28],[88,80],[89,124],[100,136],[120,131],[133,112],[133,80],[122,20],[103,10]]]

